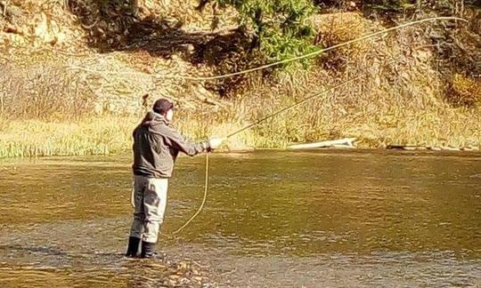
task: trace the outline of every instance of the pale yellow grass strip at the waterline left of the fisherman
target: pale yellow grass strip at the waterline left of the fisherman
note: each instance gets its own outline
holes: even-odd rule
[[[126,152],[135,118],[96,117],[77,122],[4,120],[0,157],[86,156]]]

